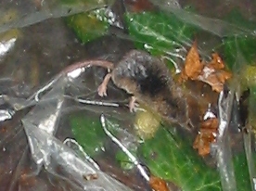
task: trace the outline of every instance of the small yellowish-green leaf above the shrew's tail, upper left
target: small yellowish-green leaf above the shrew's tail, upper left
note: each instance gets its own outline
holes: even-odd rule
[[[109,29],[105,8],[80,13],[66,18],[67,24],[82,43],[88,43],[103,36]]]

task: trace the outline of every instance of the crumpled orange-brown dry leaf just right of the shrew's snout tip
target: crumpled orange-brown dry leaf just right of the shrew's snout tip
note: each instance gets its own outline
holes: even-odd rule
[[[211,151],[211,143],[216,141],[219,121],[217,118],[211,118],[201,123],[200,130],[194,141],[193,147],[198,149],[200,156],[208,155]]]

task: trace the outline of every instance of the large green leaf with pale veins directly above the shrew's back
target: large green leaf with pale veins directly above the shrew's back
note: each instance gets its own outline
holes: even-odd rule
[[[172,52],[191,43],[197,29],[182,22],[171,13],[127,13],[125,22],[135,46],[154,56]]]

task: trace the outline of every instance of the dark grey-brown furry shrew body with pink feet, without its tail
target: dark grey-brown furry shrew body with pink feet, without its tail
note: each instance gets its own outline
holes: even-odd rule
[[[99,96],[107,96],[110,79],[117,87],[132,95],[129,104],[131,111],[137,101],[165,121],[187,127],[189,117],[186,96],[173,82],[170,70],[159,58],[139,50],[128,52],[99,85]]]

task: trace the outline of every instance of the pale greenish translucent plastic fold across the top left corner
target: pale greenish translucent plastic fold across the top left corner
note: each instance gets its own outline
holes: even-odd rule
[[[0,32],[29,26],[45,19],[65,17],[109,5],[110,2],[104,0],[3,1],[0,3]]]

